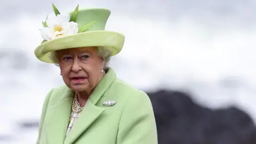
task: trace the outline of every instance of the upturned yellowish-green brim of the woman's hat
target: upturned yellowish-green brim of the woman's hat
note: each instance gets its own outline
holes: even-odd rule
[[[86,46],[105,46],[112,52],[111,56],[113,56],[122,50],[124,40],[124,35],[114,31],[88,31],[44,42],[36,47],[35,55],[37,59],[43,62],[54,63],[50,59],[53,51]]]

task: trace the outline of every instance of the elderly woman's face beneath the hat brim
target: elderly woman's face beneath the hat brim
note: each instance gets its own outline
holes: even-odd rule
[[[93,90],[103,76],[105,59],[97,54],[97,47],[59,50],[56,56],[63,81],[76,92]]]

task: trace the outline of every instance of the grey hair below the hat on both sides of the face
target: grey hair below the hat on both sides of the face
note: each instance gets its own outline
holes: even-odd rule
[[[98,46],[97,47],[97,52],[98,52],[99,56],[101,56],[102,58],[105,58],[105,66],[104,66],[104,69],[105,69],[108,66],[108,63],[110,61],[110,57],[112,55],[112,52],[104,46]],[[54,64],[56,66],[59,66],[59,60],[56,57],[56,52],[55,51],[51,52],[50,59],[54,62]]]

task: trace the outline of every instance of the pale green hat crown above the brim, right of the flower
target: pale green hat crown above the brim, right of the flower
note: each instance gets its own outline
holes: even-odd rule
[[[84,27],[88,23],[93,22],[93,24],[85,31],[105,30],[105,26],[109,18],[109,15],[110,10],[108,9],[81,9],[78,11],[76,22],[78,23],[79,28]]]

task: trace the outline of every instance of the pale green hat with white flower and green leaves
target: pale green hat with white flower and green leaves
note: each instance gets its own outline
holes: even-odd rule
[[[35,55],[39,60],[54,63],[50,59],[51,52],[75,47],[105,46],[112,52],[111,56],[122,50],[124,35],[105,30],[110,10],[78,10],[77,5],[73,12],[65,15],[53,4],[52,6],[55,14],[47,16],[41,29],[41,35],[45,40],[35,49]]]

